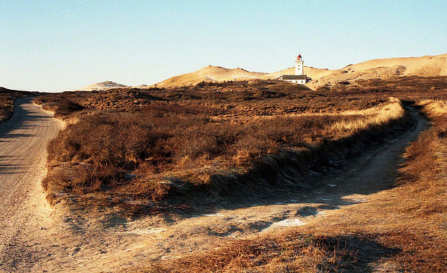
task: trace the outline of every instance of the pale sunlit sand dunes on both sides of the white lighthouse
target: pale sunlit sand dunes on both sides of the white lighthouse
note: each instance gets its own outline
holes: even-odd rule
[[[391,79],[400,76],[434,77],[447,75],[447,54],[409,58],[377,59],[356,65],[347,65],[338,70],[305,67],[307,77],[312,78],[309,86],[316,88],[338,81],[351,83],[368,79]],[[281,75],[293,75],[295,68],[273,73],[249,72],[242,68],[221,68],[209,65],[195,72],[171,77],[156,86],[175,87],[198,84],[200,81],[233,81],[246,79],[277,79]]]

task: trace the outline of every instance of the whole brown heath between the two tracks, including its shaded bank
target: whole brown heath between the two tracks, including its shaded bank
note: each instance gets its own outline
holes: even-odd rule
[[[279,187],[285,169],[303,180],[330,165],[331,155],[346,155],[346,146],[353,152],[356,141],[386,137],[406,120],[388,96],[274,81],[72,92],[36,102],[75,120],[50,142],[48,200],[70,196],[126,212]]]

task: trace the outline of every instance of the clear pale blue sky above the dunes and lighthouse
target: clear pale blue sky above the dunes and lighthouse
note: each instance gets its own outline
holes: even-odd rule
[[[0,0],[0,86],[154,84],[206,65],[274,72],[447,53],[447,1]]]

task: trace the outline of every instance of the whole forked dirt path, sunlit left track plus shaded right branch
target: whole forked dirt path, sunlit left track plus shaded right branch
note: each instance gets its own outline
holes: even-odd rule
[[[212,249],[228,238],[307,224],[392,187],[404,147],[427,127],[411,110],[416,122],[411,130],[349,162],[344,171],[324,176],[321,189],[312,192],[277,192],[196,214],[130,221],[104,212],[91,219],[63,205],[48,208],[39,182],[45,143],[62,125],[29,100],[18,104],[13,120],[0,127],[0,272],[119,272],[147,260]]]

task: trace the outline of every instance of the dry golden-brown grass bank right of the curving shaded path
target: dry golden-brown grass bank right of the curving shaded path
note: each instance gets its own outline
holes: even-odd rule
[[[309,226],[132,272],[445,272],[447,102],[418,105],[433,126],[406,151],[398,187]]]

